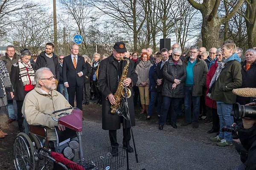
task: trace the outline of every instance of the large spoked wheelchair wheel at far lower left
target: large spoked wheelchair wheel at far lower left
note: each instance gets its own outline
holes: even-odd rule
[[[35,170],[34,146],[26,133],[19,133],[13,144],[16,170]]]

